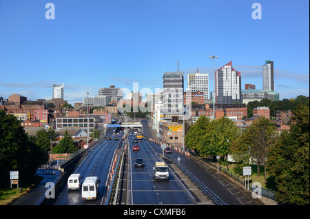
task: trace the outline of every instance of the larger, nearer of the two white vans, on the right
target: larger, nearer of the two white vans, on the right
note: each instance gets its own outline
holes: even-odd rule
[[[88,176],[85,178],[82,185],[82,195],[83,200],[95,200],[97,194],[99,193],[99,183],[100,180],[97,176]]]

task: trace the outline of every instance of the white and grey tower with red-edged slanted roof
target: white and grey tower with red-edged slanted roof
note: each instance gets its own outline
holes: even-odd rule
[[[216,104],[242,103],[241,73],[232,67],[232,61],[216,70]]]

